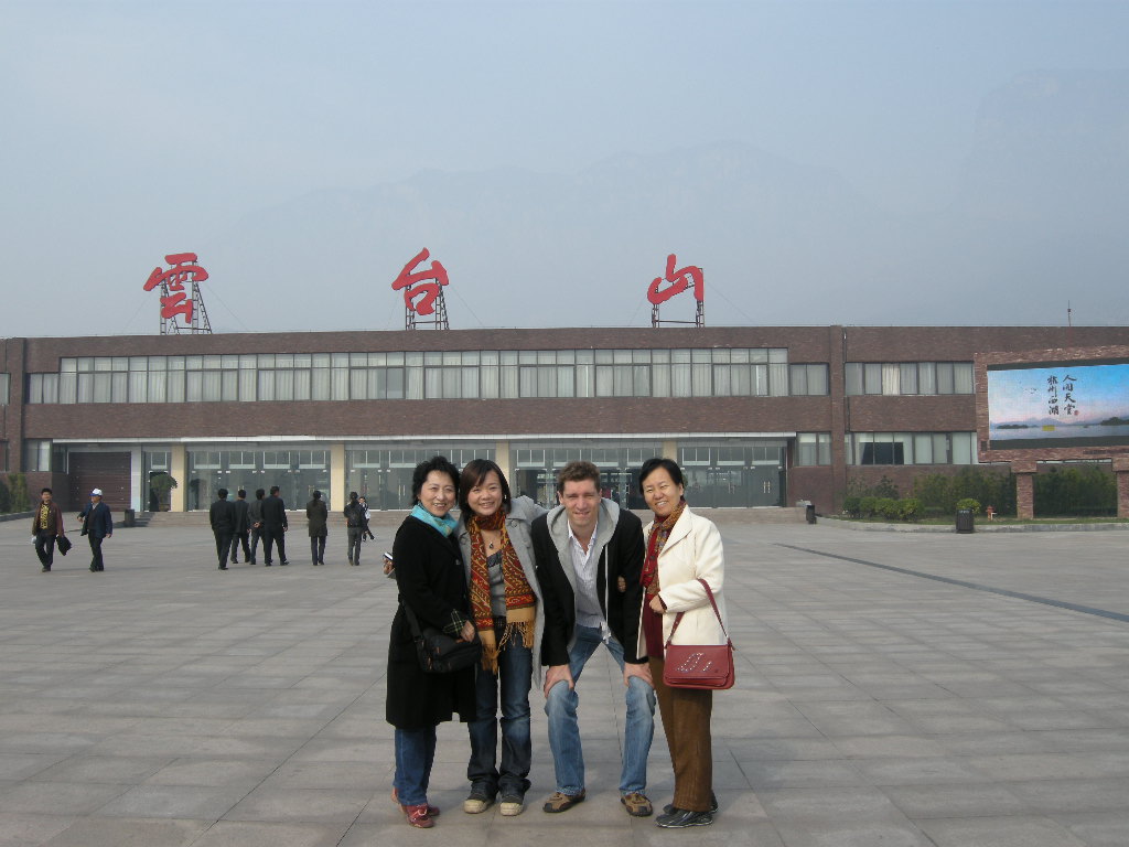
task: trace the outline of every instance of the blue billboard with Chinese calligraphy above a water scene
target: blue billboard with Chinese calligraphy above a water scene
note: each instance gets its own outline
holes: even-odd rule
[[[987,364],[986,376],[990,451],[1129,445],[1129,358]]]

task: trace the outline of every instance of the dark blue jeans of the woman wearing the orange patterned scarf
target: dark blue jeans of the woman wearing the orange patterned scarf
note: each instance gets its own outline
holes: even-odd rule
[[[500,630],[495,630],[500,638]],[[530,737],[530,686],[533,681],[533,650],[519,635],[498,654],[498,675],[479,663],[474,676],[475,719],[467,725],[471,760],[466,778],[472,791],[487,796],[524,797],[530,788],[533,741]],[[501,770],[497,767],[498,697],[501,695]]]

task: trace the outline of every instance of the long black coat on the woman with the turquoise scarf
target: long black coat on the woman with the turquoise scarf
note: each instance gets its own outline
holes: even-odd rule
[[[458,544],[422,521],[408,517],[392,544],[396,587],[420,626],[443,628],[452,612],[470,619],[470,597]],[[423,673],[415,658],[411,626],[396,609],[388,636],[388,692],[385,717],[400,730],[422,730],[450,721],[474,718],[474,667],[454,673]]]

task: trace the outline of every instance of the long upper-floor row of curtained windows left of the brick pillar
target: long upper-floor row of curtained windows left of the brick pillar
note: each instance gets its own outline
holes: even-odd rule
[[[782,348],[82,357],[29,374],[29,403],[828,394]]]

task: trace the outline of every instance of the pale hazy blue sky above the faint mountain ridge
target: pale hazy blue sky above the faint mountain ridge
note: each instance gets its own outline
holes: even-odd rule
[[[222,286],[262,281],[225,279],[202,247],[318,192],[425,172],[567,175],[735,142],[912,219],[952,201],[994,91],[1129,69],[1121,0],[0,0],[0,34],[6,337],[155,332],[141,286],[192,250],[213,324],[307,329],[292,303],[226,321],[238,297]],[[1124,279],[1123,252],[1087,261]],[[1079,323],[1129,322],[1117,287],[1088,295]],[[467,299],[485,325],[554,325],[549,297]],[[844,303],[840,320],[865,313]],[[1005,308],[937,320],[1013,323]]]

